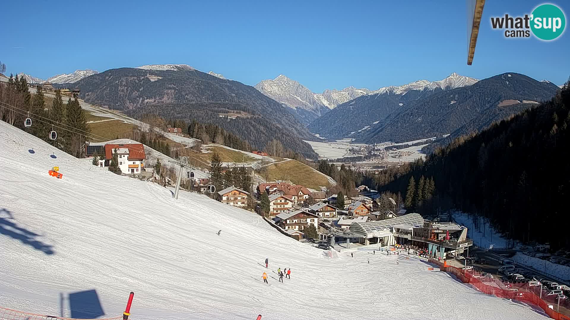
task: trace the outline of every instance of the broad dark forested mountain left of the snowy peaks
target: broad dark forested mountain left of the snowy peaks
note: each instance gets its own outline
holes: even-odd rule
[[[307,158],[317,155],[314,136],[284,106],[254,87],[197,71],[192,67],[119,68],[75,83],[89,103],[124,110],[131,116],[196,119],[220,126],[251,146],[263,149],[273,138]]]

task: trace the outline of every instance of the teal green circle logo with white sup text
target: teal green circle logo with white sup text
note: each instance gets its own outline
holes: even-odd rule
[[[566,18],[555,5],[540,5],[532,11],[531,30],[536,38],[554,40],[558,38],[566,26]]]

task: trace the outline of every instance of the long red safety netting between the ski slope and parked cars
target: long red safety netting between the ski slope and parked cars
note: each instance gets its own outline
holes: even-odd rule
[[[544,310],[544,313],[556,320],[570,320],[569,299],[558,299],[557,296],[545,296],[545,292],[540,298],[540,286],[530,286],[528,283],[509,284],[510,288],[505,288],[505,284],[499,280],[482,277],[481,274],[473,270],[463,270],[454,266],[444,266],[442,262],[430,258],[431,264],[439,265],[442,271],[453,274],[461,282],[470,284],[473,288],[482,293],[490,294],[498,298],[511,299],[535,305]],[[516,289],[511,290],[511,289]],[[550,290],[548,290],[550,291]],[[560,307],[559,307],[560,303]]]

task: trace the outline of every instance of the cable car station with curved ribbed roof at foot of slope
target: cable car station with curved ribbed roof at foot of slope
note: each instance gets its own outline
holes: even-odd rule
[[[333,245],[344,241],[360,245],[415,245],[442,259],[447,253],[459,255],[473,245],[473,240],[467,239],[466,227],[455,223],[432,223],[419,214],[355,222],[348,230],[331,230],[329,237]]]

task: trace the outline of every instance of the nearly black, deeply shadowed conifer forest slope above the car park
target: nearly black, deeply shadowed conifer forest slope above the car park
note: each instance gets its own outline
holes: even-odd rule
[[[564,157],[569,126],[567,84],[543,104],[437,148],[425,162],[382,172],[377,187],[406,194],[411,177],[433,178],[435,196],[419,199],[414,204],[418,212],[457,208],[490,219],[514,239],[567,247],[570,238],[564,232],[545,230],[569,222],[570,162]]]

